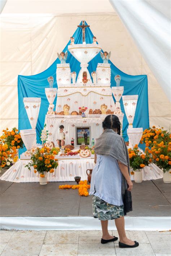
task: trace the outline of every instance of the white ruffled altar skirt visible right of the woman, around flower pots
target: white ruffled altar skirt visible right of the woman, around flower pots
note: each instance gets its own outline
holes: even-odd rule
[[[155,164],[149,164],[149,166],[145,166],[142,168],[142,180],[150,181],[152,179],[161,179],[163,178],[163,172],[160,168],[158,168]],[[131,180],[134,181],[134,175],[131,175]]]

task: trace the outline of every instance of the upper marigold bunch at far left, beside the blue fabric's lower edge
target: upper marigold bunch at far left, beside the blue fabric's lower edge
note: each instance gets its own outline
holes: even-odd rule
[[[16,147],[17,149],[23,148],[24,143],[22,141],[21,135],[16,128],[9,131],[8,128],[3,130],[3,135],[1,136],[3,143],[7,144],[9,148]]]

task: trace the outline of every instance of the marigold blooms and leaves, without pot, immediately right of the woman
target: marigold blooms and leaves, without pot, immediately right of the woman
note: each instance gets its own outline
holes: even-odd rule
[[[152,159],[150,158],[149,153],[143,154],[139,151],[138,145],[136,144],[134,148],[128,149],[130,167],[135,171],[136,169],[142,169],[145,166],[148,166]],[[131,172],[131,174],[134,174]]]

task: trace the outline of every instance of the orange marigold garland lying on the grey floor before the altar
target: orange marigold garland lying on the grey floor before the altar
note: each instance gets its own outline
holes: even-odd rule
[[[88,188],[90,188],[90,185],[87,184],[87,181],[80,181],[79,185],[60,185],[59,189],[76,189],[78,188],[78,193],[80,196],[89,196]]]

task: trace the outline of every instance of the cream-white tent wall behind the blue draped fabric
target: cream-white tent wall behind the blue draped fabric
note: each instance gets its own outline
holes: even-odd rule
[[[117,15],[1,17],[1,129],[18,127],[18,74],[34,75],[47,69],[82,19],[103,50],[111,51],[115,66],[130,75],[148,76],[150,126],[169,129],[170,102]]]

